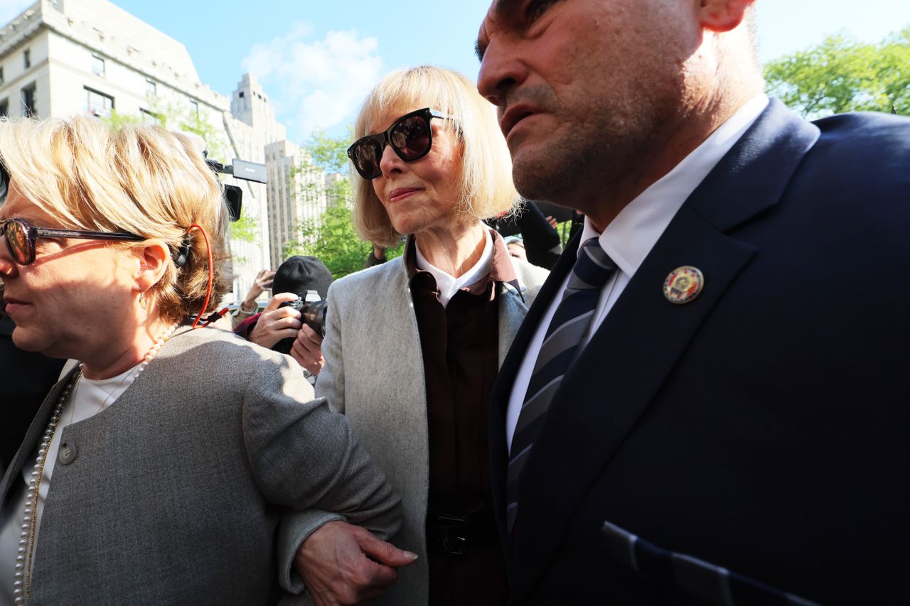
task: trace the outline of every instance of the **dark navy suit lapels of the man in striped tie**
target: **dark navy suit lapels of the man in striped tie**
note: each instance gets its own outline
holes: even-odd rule
[[[726,288],[759,252],[724,231],[778,202],[817,137],[817,128],[772,101],[673,217],[562,380],[546,426],[522,471],[520,530],[511,562],[519,571],[512,579],[513,598],[521,599],[531,590],[584,494],[652,403]],[[503,384],[511,386],[542,308],[571,268],[572,259],[566,260],[563,256],[561,272],[548,280],[546,292],[541,292],[519,331],[507,359],[511,374],[502,378],[496,392],[500,406],[508,402]],[[684,265],[702,270],[704,288],[693,302],[674,305],[663,297],[662,284],[673,269]],[[503,421],[497,417],[497,422]],[[502,435],[500,442],[504,442]],[[498,473],[501,489],[504,469]],[[494,497],[501,498],[501,491]]]

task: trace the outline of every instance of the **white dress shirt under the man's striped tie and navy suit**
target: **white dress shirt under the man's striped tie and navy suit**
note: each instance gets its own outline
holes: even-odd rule
[[[672,170],[652,183],[638,197],[622,209],[603,230],[602,234],[591,225],[587,217],[584,219],[584,228],[581,231],[580,242],[586,242],[591,237],[599,237],[601,247],[606,251],[618,271],[607,280],[598,299],[597,308],[591,318],[591,327],[585,336],[582,347],[587,344],[591,334],[601,326],[603,318],[607,317],[616,299],[635,272],[641,267],[644,258],[648,256],[663,231],[670,225],[676,212],[682,207],[686,198],[692,195],[696,187],[708,176],[713,167],[721,158],[739,141],[743,133],[753,125],[753,122],[768,105],[768,96],[763,93],[753,96],[740,107],[733,116],[727,118],[702,144],[677,164]],[[512,435],[521,412],[525,392],[531,381],[531,372],[537,354],[541,350],[541,343],[550,321],[556,313],[556,308],[562,300],[562,292],[569,282],[569,275],[562,281],[556,296],[550,302],[550,308],[541,318],[537,331],[531,338],[524,359],[515,375],[509,398],[509,409],[506,412],[506,443],[511,449]]]

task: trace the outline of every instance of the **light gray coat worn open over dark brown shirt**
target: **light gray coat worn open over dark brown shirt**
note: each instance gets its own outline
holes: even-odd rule
[[[499,361],[506,352],[549,272],[511,259],[521,292],[500,284]],[[364,269],[329,288],[328,329],[322,343],[326,365],[316,391],[332,410],[343,412],[359,442],[401,495],[404,525],[392,541],[417,553],[399,570],[399,581],[379,600],[426,604],[428,561],[424,525],[430,491],[427,390],[420,334],[403,258]],[[307,517],[294,514],[297,531],[307,533]],[[289,533],[293,534],[293,533]],[[287,556],[285,556],[287,557]]]

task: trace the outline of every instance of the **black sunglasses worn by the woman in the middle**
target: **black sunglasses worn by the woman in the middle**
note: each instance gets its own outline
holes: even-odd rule
[[[395,120],[384,133],[359,138],[348,147],[348,157],[365,179],[375,179],[382,174],[379,162],[382,150],[386,145],[392,146],[398,157],[405,162],[413,162],[430,153],[433,146],[433,131],[430,128],[431,118],[446,119],[451,116],[424,107]]]

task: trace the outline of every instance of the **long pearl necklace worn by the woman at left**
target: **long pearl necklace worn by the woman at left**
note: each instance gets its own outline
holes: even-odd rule
[[[147,354],[143,356],[142,362],[139,363],[139,367],[136,369],[136,379],[142,374],[143,370],[147,369],[148,364],[155,359],[158,355],[158,351],[161,350],[165,341],[174,334],[175,330],[177,330],[177,324],[172,324],[155,339],[155,343],[149,348]],[[26,601],[31,599],[32,563],[35,555],[35,532],[38,524],[38,490],[41,488],[41,479],[44,477],[45,473],[47,451],[50,449],[51,442],[54,439],[57,423],[60,422],[60,415],[63,414],[66,401],[69,399],[70,394],[73,393],[73,390],[76,389],[76,383],[82,378],[83,368],[83,365],[80,364],[73,379],[66,386],[66,389],[63,390],[63,393],[60,394],[60,399],[57,400],[54,412],[51,414],[51,420],[47,424],[47,429],[45,429],[45,434],[41,439],[41,446],[38,448],[38,457],[35,459],[35,467],[32,470],[31,477],[28,479],[28,496],[25,498],[25,513],[22,518],[22,531],[19,533],[19,547],[15,554],[13,595],[16,604],[25,604]],[[26,560],[28,561],[27,569],[25,567]]]

